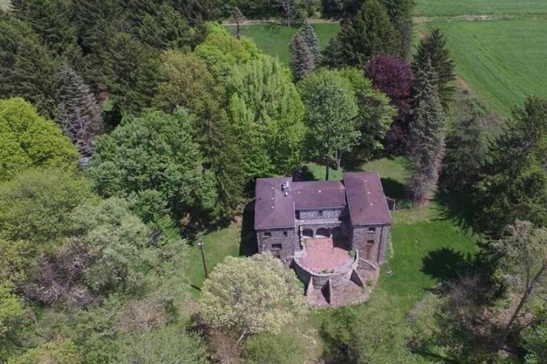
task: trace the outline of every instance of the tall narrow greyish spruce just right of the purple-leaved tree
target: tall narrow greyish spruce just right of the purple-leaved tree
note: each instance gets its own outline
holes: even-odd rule
[[[445,114],[436,89],[436,73],[428,61],[414,80],[410,123],[410,192],[414,203],[430,199],[439,179],[444,153]]]

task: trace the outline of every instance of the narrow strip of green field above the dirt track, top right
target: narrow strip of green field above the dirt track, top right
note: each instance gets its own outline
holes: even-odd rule
[[[457,17],[479,14],[547,14],[545,0],[417,0],[420,17]]]

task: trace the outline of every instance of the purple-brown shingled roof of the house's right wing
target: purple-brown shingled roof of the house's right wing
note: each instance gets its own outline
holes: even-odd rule
[[[391,223],[378,172],[349,172],[343,178],[353,225]]]

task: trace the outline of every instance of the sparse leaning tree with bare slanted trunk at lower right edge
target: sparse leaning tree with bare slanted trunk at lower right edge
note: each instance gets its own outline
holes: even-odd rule
[[[493,243],[495,253],[500,256],[501,270],[508,275],[513,293],[519,303],[501,332],[499,347],[505,345],[515,321],[526,310],[526,305],[535,295],[547,292],[547,230],[536,228],[529,221],[515,222],[506,230],[502,239]]]

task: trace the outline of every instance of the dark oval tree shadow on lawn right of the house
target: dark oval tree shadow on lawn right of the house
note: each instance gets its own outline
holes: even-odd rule
[[[445,283],[474,270],[472,254],[464,255],[453,248],[432,250],[422,259],[421,272]]]

